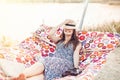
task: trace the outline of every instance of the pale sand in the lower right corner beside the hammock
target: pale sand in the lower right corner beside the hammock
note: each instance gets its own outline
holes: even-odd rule
[[[120,47],[108,54],[107,62],[95,80],[120,80]]]

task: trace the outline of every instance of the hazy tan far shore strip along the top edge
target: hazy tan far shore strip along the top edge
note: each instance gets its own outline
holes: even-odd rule
[[[0,2],[7,3],[80,3],[83,0],[0,0]],[[96,3],[110,3],[110,4],[120,4],[120,0],[89,0],[89,2]]]

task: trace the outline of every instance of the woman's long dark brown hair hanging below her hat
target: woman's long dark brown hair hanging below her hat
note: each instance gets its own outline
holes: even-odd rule
[[[63,30],[63,32],[61,34],[61,39],[58,42],[63,42],[64,40],[65,40],[65,33],[64,33],[64,30]],[[77,44],[79,43],[79,40],[78,40],[78,37],[76,35],[76,30],[75,29],[73,30],[71,39],[65,44],[65,47],[68,46],[71,43],[73,44],[73,50],[75,50]]]

